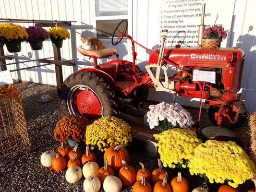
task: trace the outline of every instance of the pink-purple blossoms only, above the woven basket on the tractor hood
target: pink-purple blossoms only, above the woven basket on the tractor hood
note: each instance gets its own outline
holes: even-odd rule
[[[204,38],[205,39],[225,39],[227,37],[227,33],[222,26],[214,26],[208,27],[205,29]]]

